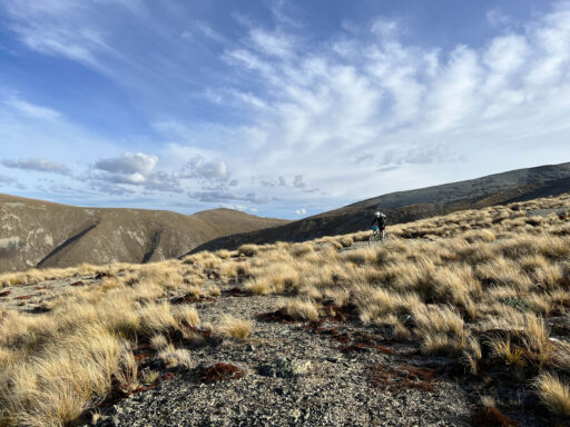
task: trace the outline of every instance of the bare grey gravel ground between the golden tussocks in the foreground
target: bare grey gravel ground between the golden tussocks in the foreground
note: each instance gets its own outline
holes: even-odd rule
[[[239,318],[275,310],[275,297],[222,296],[198,304],[203,321],[215,324],[232,312]],[[335,322],[354,334],[364,331]],[[367,332],[373,332],[367,330]],[[374,331],[375,332],[375,331]],[[302,324],[255,320],[246,341],[206,344],[193,351],[196,368],[154,390],[131,395],[102,409],[110,416],[100,425],[129,426],[466,426],[473,399],[458,381],[445,375],[433,380],[433,391],[403,387],[394,393],[373,384],[373,366],[410,376],[400,366],[444,368],[449,360],[422,360],[410,356],[413,346],[383,350],[342,350],[343,344],[315,334]],[[393,350],[393,354],[386,354]],[[205,367],[227,363],[243,369],[239,379],[204,383]],[[428,370],[426,370],[428,371]],[[394,378],[395,381],[399,378]],[[422,379],[416,377],[417,384]]]

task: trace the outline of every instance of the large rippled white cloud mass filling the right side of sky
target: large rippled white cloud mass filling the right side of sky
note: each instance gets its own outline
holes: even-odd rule
[[[531,140],[548,135],[560,151],[570,131],[563,119],[570,98],[562,96],[570,91],[562,77],[570,75],[569,13],[561,7],[517,30],[498,30],[482,47],[451,51],[405,44],[405,29],[385,19],[374,21],[372,41],[343,36],[341,52],[338,40],[308,50],[285,33],[295,54],[274,59],[259,46],[227,51],[255,79],[253,96],[265,107],[242,100],[250,123],[237,128],[234,141],[244,153],[235,161],[250,165],[245,169],[266,177],[255,182],[285,200],[303,196],[278,187],[277,176],[302,176],[326,189],[321,202],[548,161],[530,153],[538,147]],[[371,158],[382,159],[380,166]],[[409,178],[379,181],[377,172],[397,169]],[[243,181],[243,170],[233,170]]]

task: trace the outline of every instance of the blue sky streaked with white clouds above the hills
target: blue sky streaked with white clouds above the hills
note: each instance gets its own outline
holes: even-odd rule
[[[0,0],[0,192],[303,218],[570,161],[570,1]]]

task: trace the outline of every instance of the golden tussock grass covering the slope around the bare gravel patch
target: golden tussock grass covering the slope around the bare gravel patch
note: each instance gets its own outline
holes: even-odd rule
[[[191,337],[199,316],[173,307],[170,292],[210,297],[222,281],[246,279],[250,295],[279,294],[302,320],[323,316],[325,300],[354,304],[360,321],[414,340],[425,355],[448,355],[476,377],[489,366],[529,381],[544,405],[570,415],[570,346],[549,337],[547,320],[570,307],[570,224],[566,216],[527,217],[532,209],[569,209],[569,198],[458,212],[391,227],[394,240],[350,248],[353,234],[306,244],[200,252],[146,266],[88,265],[0,276],[3,286],[104,274],[99,286],[45,301],[51,311],[2,310],[0,407],[4,425],[59,426],[94,407],[119,384],[156,380],[139,373],[140,342],[165,366],[191,366],[174,336]],[[216,334],[244,338],[252,325],[228,317]],[[207,327],[212,330],[212,327]]]

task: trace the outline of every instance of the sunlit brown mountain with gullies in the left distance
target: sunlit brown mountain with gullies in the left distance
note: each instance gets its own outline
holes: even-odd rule
[[[230,209],[195,215],[78,208],[0,195],[0,272],[81,262],[148,262],[205,241],[287,224]]]

